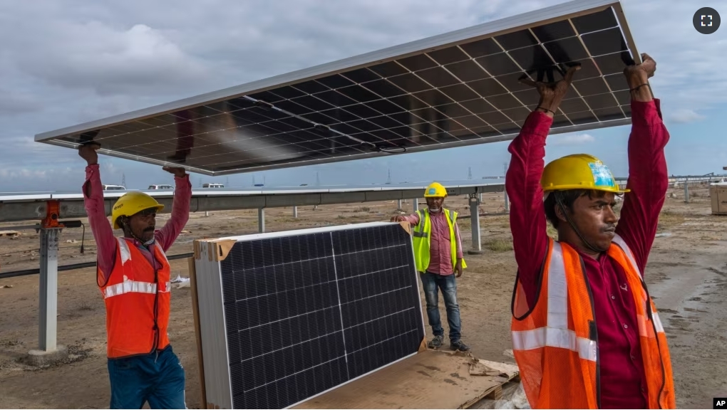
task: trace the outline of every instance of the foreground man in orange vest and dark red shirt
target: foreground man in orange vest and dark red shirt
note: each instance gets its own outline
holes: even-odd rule
[[[573,93],[565,112],[559,110],[568,91],[585,86],[571,83],[579,67],[555,83],[523,81],[540,101],[510,144],[505,188],[518,262],[513,353],[532,409],[675,407],[664,328],[643,282],[668,185],[669,133],[648,85],[656,62],[646,54],[642,61],[624,69],[630,105],[616,106],[610,94],[585,99],[599,104],[592,115],[600,119],[631,113],[626,189],[592,155],[544,167],[553,117],[586,107]],[[619,221],[614,206],[621,197]],[[558,240],[548,237],[546,220]]]

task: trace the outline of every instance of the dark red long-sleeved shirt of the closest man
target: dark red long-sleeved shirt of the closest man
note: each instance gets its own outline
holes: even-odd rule
[[[616,233],[629,245],[643,272],[668,187],[664,146],[669,141],[669,133],[662,123],[659,100],[632,101],[631,109],[627,183],[631,192],[624,194]],[[540,177],[545,167],[545,139],[552,123],[553,119],[542,112],[529,115],[520,135],[510,144],[512,160],[505,177],[515,260],[529,301],[535,300],[547,251]],[[646,375],[641,361],[636,309],[625,272],[606,255],[595,260],[582,254],[582,259],[593,292],[598,328],[601,407],[644,409]]]

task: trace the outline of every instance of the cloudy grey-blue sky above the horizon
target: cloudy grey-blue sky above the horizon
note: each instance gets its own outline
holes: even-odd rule
[[[84,160],[33,136],[562,3],[559,0],[246,0],[0,2],[0,192],[79,190]],[[514,7],[517,4],[518,7]],[[640,52],[658,69],[672,174],[723,173],[727,27],[692,16],[724,1],[622,0]],[[629,127],[549,137],[546,160],[601,157],[627,175]],[[249,186],[383,183],[502,175],[507,142],[212,179]],[[101,157],[103,181],[168,183],[158,166]]]

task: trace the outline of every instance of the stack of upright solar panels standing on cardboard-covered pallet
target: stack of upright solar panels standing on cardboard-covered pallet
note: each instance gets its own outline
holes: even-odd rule
[[[208,405],[294,406],[419,350],[419,279],[400,224],[230,239],[225,257],[203,246],[196,259]]]

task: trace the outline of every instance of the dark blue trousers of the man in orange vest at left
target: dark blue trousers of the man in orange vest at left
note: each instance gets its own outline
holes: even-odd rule
[[[186,409],[185,371],[169,345],[157,353],[109,358],[111,409]]]

